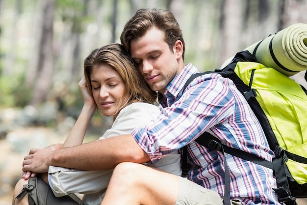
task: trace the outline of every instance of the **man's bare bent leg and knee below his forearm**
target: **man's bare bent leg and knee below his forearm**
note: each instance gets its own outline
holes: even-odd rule
[[[175,205],[178,191],[178,176],[124,162],[114,169],[101,205]]]

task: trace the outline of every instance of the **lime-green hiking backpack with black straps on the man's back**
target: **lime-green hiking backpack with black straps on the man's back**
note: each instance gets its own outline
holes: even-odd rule
[[[196,139],[196,142],[273,169],[278,185],[274,191],[280,202],[296,205],[296,198],[307,198],[306,89],[279,71],[257,63],[250,52],[242,51],[221,70],[192,75],[183,90],[197,76],[212,72],[230,78],[245,96],[276,157],[273,162],[263,160],[256,155],[225,146],[207,132]],[[183,155],[185,152],[183,148]],[[185,169],[186,164],[183,157],[185,173],[188,171]],[[225,160],[225,199],[230,197],[229,177]],[[227,201],[229,200],[224,200],[225,205]]]

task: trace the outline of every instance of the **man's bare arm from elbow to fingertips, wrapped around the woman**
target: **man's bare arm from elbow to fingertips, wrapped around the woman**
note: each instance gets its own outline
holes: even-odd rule
[[[144,163],[149,161],[146,152],[132,135],[107,138],[59,150],[31,149],[25,156],[23,171],[48,172],[49,166],[81,170],[112,169],[121,162]]]

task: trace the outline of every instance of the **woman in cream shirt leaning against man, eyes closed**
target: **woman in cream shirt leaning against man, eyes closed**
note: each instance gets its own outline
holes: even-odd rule
[[[129,134],[134,128],[145,125],[160,114],[158,107],[153,105],[157,97],[156,92],[147,86],[133,60],[120,44],[110,44],[92,51],[84,60],[84,78],[79,82],[79,88],[84,98],[84,106],[62,147],[82,144],[96,110],[104,116],[113,116],[114,119],[112,127],[100,139]],[[180,156],[177,152],[148,166],[181,175]],[[66,195],[81,193],[85,194],[83,204],[99,205],[111,175],[112,170],[83,171],[51,166],[45,181],[50,184],[53,194],[60,198],[50,197],[49,186],[48,190],[38,188],[42,184],[38,181],[42,180],[40,177],[32,177],[29,182],[21,179],[17,183],[13,199],[23,189],[24,184],[33,184],[36,186],[36,192],[33,194],[31,190],[28,191],[29,201],[43,201],[45,204],[64,204],[65,201],[65,204],[69,204],[67,200],[70,199],[67,199]],[[44,179],[43,176],[42,178]],[[35,182],[31,182],[33,180]],[[15,204],[28,204],[28,200],[17,198]]]

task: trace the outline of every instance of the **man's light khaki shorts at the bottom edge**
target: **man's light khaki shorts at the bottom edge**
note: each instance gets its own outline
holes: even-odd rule
[[[231,201],[231,204],[241,205],[241,202]],[[176,205],[223,205],[223,201],[217,192],[179,176]]]

